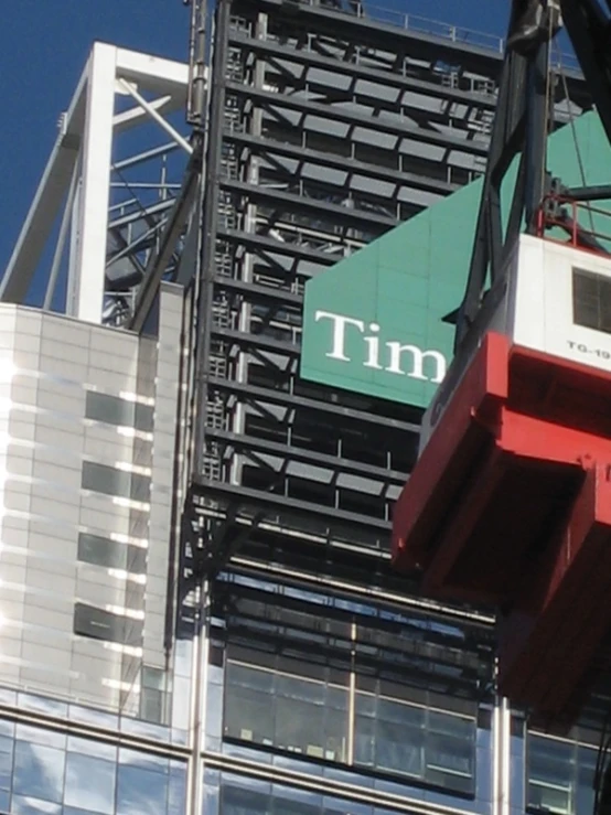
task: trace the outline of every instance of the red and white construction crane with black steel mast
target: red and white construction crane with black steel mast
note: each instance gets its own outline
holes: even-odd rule
[[[611,0],[514,0],[454,360],[393,519],[397,569],[496,608],[499,693],[554,730],[611,630],[611,185],[547,170],[561,30],[611,146]]]

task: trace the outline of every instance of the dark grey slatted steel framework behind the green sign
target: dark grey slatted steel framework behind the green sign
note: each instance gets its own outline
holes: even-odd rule
[[[330,597],[451,620],[465,640],[444,691],[474,699],[491,676],[492,618],[432,608],[409,581],[406,599],[406,579],[388,566],[390,507],[415,462],[419,411],[307,383],[299,354],[308,279],[483,173],[503,44],[367,11],[286,0],[216,7],[194,575],[212,580],[214,608],[236,614],[250,602],[240,578],[275,581],[278,609],[288,587],[323,583]],[[580,76],[566,75],[555,88],[558,125],[589,107]],[[269,600],[253,602],[253,614],[268,619]],[[384,625],[367,637],[383,651]],[[412,682],[430,684],[433,663]]]

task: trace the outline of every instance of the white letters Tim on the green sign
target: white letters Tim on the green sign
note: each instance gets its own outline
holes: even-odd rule
[[[447,362],[440,351],[432,348],[425,351],[412,343],[401,343],[397,340],[380,343],[378,334],[382,328],[377,323],[366,325],[363,320],[345,314],[319,310],[314,313],[314,321],[321,320],[331,322],[331,347],[325,353],[329,360],[353,362],[353,357],[347,355],[346,346],[350,345],[354,350],[355,340],[358,337],[364,347],[356,358],[361,360],[365,368],[436,384],[446,376]],[[364,336],[365,332],[368,332],[367,336]]]

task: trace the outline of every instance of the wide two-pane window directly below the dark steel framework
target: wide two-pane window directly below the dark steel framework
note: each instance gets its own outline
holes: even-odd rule
[[[227,662],[226,737],[340,763],[352,752],[355,766],[474,794],[474,718],[355,691],[351,727],[347,683],[298,676],[299,664],[291,674],[283,662],[287,673]]]

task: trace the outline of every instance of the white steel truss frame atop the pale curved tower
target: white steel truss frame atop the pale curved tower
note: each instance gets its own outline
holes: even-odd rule
[[[192,153],[187,85],[186,64],[94,45],[0,282],[1,300],[61,302],[94,323],[130,318],[147,275],[178,262],[189,217],[183,201],[176,227]],[[193,200],[191,192],[186,210]],[[164,248],[164,269],[151,270],[170,222],[174,246]]]

